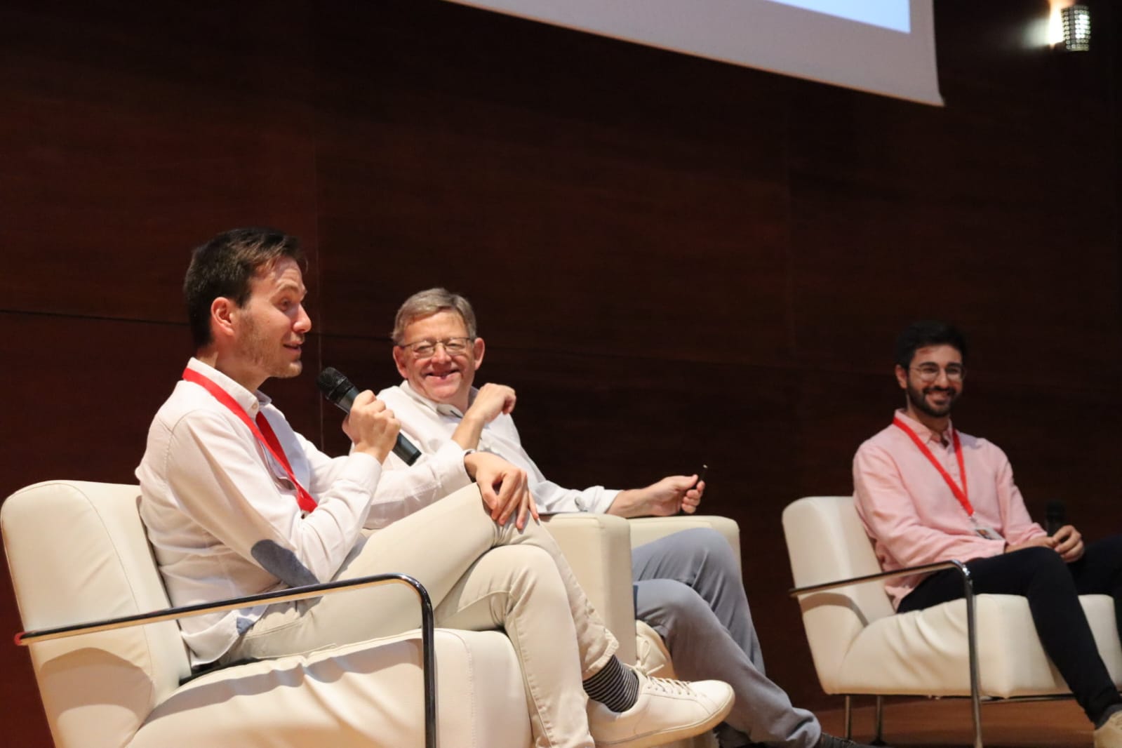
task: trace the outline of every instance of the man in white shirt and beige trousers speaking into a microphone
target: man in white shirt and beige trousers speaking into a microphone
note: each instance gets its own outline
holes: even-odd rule
[[[199,247],[184,281],[196,353],[160,407],[137,468],[140,514],[176,606],[404,572],[439,626],[503,627],[526,689],[535,746],[647,746],[696,735],[727,712],[718,682],[665,683],[625,668],[557,544],[534,521],[523,471],[459,452],[461,493],[366,539],[361,533],[398,423],[361,393],[331,459],[259,387],[301,372],[312,323],[293,237],[238,229]],[[525,521],[496,523],[491,512]],[[195,665],[364,641],[415,626],[398,591],[360,590],[184,619]],[[408,592],[402,593],[408,597]],[[591,700],[590,700],[591,699]],[[587,709],[587,710],[586,710]],[[521,718],[521,715],[519,715]]]

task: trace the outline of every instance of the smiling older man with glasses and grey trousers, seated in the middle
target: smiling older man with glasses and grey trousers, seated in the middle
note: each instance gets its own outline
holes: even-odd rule
[[[493,452],[524,470],[542,511],[638,517],[697,510],[705,491],[697,475],[669,475],[623,491],[603,486],[567,489],[546,480],[522,447],[511,417],[515,391],[496,384],[472,387],[486,345],[462,296],[443,288],[414,294],[397,312],[393,339],[394,361],[405,381],[378,397],[394,409],[402,432],[425,456],[406,467],[390,455],[389,474],[423,474],[430,459],[453,445]],[[379,486],[376,507],[383,500],[395,506],[393,499],[393,490]],[[506,511],[495,509],[493,516],[502,520]],[[380,520],[396,518],[387,511]],[[824,733],[815,715],[792,707],[787,693],[764,674],[739,562],[719,534],[691,529],[646,544],[635,550],[632,566],[636,616],[662,636],[675,672],[733,685],[736,703],[717,731],[723,746],[855,745]]]

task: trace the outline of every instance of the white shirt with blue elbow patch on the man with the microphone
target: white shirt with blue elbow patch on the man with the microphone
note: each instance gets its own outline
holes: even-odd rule
[[[140,518],[174,606],[213,602],[332,579],[360,537],[381,467],[365,453],[331,459],[295,433],[261,393],[205,363],[188,368],[265,414],[316,499],[304,514],[285,470],[249,427],[200,385],[180,381],[156,413],[136,470]],[[184,618],[192,664],[213,662],[264,607]]]

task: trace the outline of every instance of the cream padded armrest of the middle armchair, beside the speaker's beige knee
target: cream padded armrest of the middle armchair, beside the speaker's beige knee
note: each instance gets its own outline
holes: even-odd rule
[[[620,662],[635,662],[635,598],[631,525],[623,517],[561,514],[542,517],[592,607],[619,640]]]

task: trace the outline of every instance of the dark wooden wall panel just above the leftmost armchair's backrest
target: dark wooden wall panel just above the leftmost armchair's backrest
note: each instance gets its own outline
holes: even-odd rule
[[[0,493],[58,478],[127,483],[186,361],[182,325],[3,313],[11,357]],[[178,349],[178,350],[176,350]],[[125,351],[142,354],[123,357]]]

